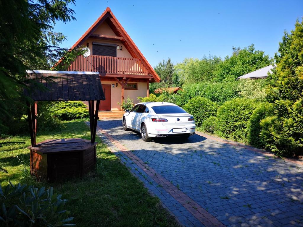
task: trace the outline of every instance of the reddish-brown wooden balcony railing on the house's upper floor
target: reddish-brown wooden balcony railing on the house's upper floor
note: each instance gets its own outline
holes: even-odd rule
[[[78,56],[68,71],[90,71],[100,74],[147,75],[148,70],[138,58],[122,58],[90,55]]]

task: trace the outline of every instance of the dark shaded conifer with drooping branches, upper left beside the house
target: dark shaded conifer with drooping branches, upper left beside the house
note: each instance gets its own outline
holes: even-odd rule
[[[75,0],[11,0],[0,1],[0,133],[5,133],[12,120],[20,119],[25,112],[22,104],[23,88],[33,83],[26,79],[27,69],[50,69],[62,58],[66,64],[81,48],[68,51],[60,48],[66,40],[61,32],[54,31],[56,21],[75,20],[68,7]]]

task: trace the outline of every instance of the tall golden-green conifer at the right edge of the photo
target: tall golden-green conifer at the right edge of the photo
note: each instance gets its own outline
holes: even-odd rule
[[[267,99],[273,116],[261,120],[260,140],[278,155],[303,154],[303,20],[284,33],[268,76]]]

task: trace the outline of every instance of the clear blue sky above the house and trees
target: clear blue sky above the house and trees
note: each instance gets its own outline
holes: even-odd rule
[[[225,58],[232,46],[255,48],[274,56],[285,30],[303,17],[303,1],[113,1],[76,0],[77,21],[58,22],[71,47],[109,6],[151,66],[163,58],[214,54]]]

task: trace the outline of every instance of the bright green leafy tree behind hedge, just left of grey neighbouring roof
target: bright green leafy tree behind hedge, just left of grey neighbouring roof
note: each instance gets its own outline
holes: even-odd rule
[[[215,72],[215,81],[229,81],[272,64],[273,59],[264,51],[255,50],[254,44],[248,48],[233,47],[231,57],[226,56]]]

